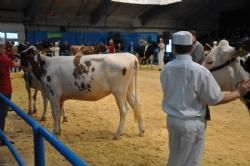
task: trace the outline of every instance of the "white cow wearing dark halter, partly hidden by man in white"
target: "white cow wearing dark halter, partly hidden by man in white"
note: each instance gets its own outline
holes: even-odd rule
[[[221,40],[206,56],[203,65],[208,68],[222,91],[233,91],[238,84],[249,79],[249,73],[241,66],[239,50],[230,46],[227,40]],[[250,93],[241,97],[250,113]]]

